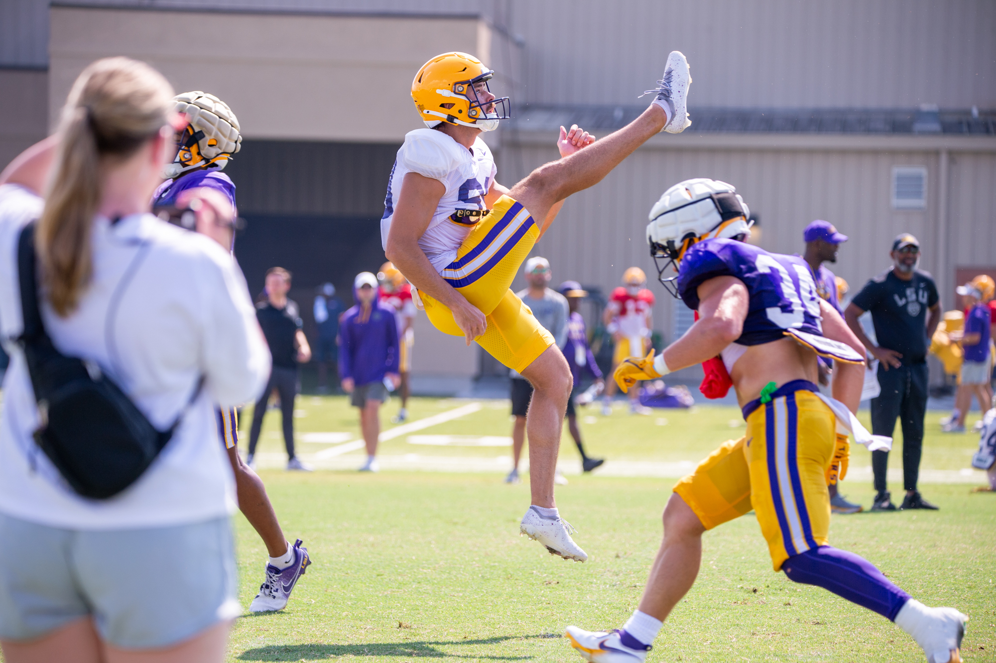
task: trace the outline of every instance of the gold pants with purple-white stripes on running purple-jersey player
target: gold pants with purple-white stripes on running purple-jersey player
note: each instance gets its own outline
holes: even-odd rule
[[[829,546],[826,471],[837,425],[813,392],[781,391],[747,415],[745,437],[724,443],[674,487],[707,530],[753,509],[775,570]]]

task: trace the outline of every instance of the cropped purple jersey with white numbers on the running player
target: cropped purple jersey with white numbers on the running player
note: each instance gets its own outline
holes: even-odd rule
[[[813,273],[799,256],[768,253],[731,239],[707,239],[692,246],[678,269],[678,294],[698,310],[698,287],[716,277],[731,276],[747,286],[750,308],[736,342],[760,345],[796,330],[823,335],[820,296]]]

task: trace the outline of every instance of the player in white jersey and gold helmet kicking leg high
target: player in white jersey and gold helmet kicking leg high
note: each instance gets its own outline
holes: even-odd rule
[[[563,158],[508,189],[495,181],[494,159],[479,137],[509,117],[508,98],[488,89],[493,75],[464,53],[437,56],[415,74],[411,97],[429,128],[408,132],[397,151],[381,239],[437,330],[464,336],[468,345],[476,340],[532,383],[526,418],[532,506],[520,532],[551,554],[585,561],[554,502],[571,369],[554,337],[509,287],[565,198],[598,183],[650,136],[691,123],[685,112],[691,79],[684,56],[671,53],[655,98],[639,117],[597,142],[577,126],[562,126]]]

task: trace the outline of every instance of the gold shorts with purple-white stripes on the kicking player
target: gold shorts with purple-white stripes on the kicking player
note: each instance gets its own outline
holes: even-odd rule
[[[522,204],[502,196],[474,226],[442,271],[442,278],[487,317],[476,338],[491,356],[522,371],[555,343],[529,307],[509,287],[539,237],[539,227]],[[439,331],[462,336],[452,312],[419,292],[425,314]]]

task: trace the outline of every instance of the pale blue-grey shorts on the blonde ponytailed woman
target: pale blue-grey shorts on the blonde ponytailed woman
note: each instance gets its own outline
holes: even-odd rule
[[[166,647],[241,614],[237,590],[227,518],[91,532],[0,514],[0,639],[91,615],[116,647]]]

